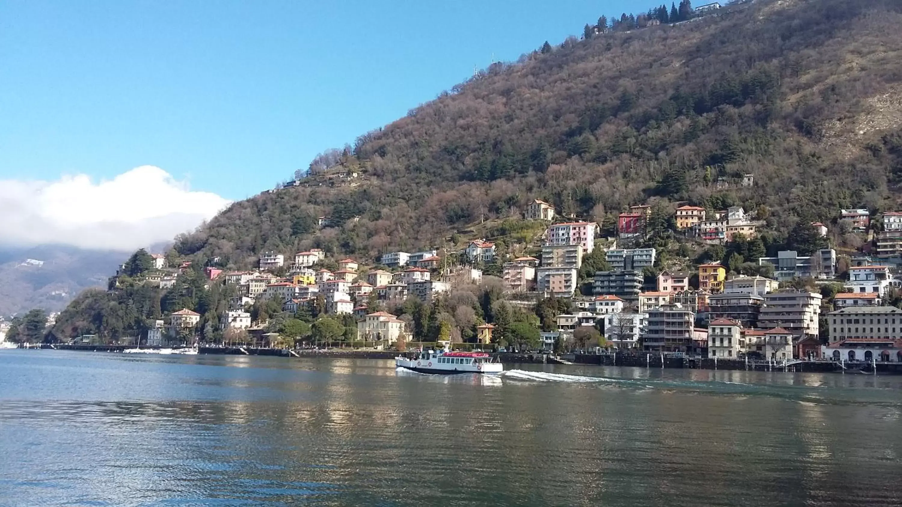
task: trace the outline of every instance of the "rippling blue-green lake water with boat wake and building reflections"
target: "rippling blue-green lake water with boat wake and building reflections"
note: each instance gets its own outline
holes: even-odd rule
[[[902,377],[514,368],[0,350],[0,505],[902,504]]]

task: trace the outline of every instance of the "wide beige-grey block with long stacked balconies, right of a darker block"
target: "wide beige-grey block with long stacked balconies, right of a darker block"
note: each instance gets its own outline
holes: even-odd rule
[[[796,336],[818,336],[821,300],[818,293],[780,291],[764,294],[764,306],[758,316],[760,328],[785,328]]]

